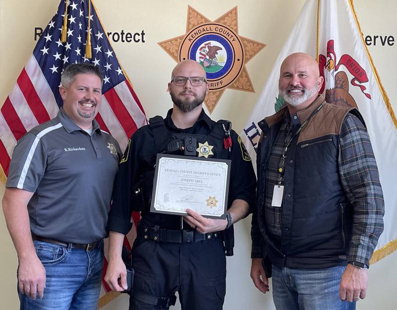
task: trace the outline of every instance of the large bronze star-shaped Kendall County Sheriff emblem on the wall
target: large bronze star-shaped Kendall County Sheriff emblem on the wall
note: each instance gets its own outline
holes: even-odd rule
[[[158,43],[175,61],[195,60],[206,72],[212,113],[226,88],[254,92],[245,64],[266,45],[238,34],[237,6],[210,21],[188,6],[186,33]]]

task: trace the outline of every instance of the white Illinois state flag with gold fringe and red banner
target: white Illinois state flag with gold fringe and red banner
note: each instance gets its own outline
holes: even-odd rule
[[[371,262],[397,249],[397,120],[361,34],[352,0],[307,0],[284,44],[241,137],[256,158],[257,123],[284,104],[278,96],[282,61],[295,52],[318,59],[325,84],[320,92],[330,103],[354,106],[364,117],[377,160],[386,215],[385,231]],[[255,160],[254,160],[255,162]]]

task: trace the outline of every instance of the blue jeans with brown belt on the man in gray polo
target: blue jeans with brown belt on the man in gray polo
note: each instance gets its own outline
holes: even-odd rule
[[[103,242],[91,251],[34,241],[46,269],[43,299],[32,300],[18,291],[20,310],[96,310],[101,291]]]

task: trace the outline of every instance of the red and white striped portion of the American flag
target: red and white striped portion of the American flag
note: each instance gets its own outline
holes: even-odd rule
[[[16,142],[33,127],[54,118],[58,110],[54,94],[32,55],[0,111],[0,165],[5,175]],[[147,124],[143,108],[127,80],[102,95],[96,119],[122,150],[132,133]]]

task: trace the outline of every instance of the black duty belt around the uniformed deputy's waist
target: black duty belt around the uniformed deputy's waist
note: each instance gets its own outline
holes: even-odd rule
[[[199,233],[194,230],[168,230],[160,227],[146,227],[138,225],[138,235],[145,239],[151,239],[154,241],[185,243],[216,238],[219,236],[219,233]]]

